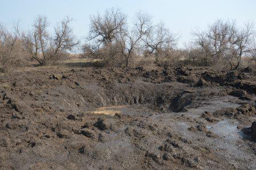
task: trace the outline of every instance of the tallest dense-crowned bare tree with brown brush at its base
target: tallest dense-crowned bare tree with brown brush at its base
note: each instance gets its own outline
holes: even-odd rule
[[[83,55],[99,58],[109,66],[118,63],[117,60],[122,58],[120,36],[125,32],[125,27],[126,16],[118,9],[109,9],[103,15],[92,16]]]

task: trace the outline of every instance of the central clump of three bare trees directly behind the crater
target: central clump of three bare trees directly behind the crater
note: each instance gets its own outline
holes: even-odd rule
[[[151,53],[156,55],[169,50],[174,45],[174,36],[163,23],[154,26],[151,20],[150,15],[139,11],[129,28],[126,16],[114,9],[107,10],[103,17],[99,14],[91,17],[88,38],[91,44],[86,44],[83,50],[85,54],[94,52],[105,61],[118,58],[119,65],[125,66],[129,66],[133,56],[141,55],[145,47],[152,48]]]

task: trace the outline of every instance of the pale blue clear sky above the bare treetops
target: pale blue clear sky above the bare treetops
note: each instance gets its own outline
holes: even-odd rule
[[[71,26],[82,42],[89,33],[90,15],[112,7],[122,10],[130,20],[139,10],[149,13],[155,23],[162,21],[179,35],[179,47],[191,41],[193,30],[204,30],[216,19],[235,19],[239,26],[256,22],[255,0],[0,0],[0,7],[0,22],[8,27],[19,22],[21,29],[31,27],[38,15],[46,15],[50,30],[62,18],[73,18]]]

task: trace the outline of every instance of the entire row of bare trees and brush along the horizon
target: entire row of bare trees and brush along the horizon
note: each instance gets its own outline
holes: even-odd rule
[[[139,11],[131,24],[119,9],[92,15],[86,42],[75,38],[69,17],[62,19],[49,32],[50,23],[44,16],[35,18],[31,28],[20,31],[18,25],[7,29],[0,23],[0,68],[55,64],[80,48],[84,58],[99,59],[105,66],[132,66],[135,59],[154,58],[155,63],[182,63],[193,66],[221,66],[236,70],[246,59],[255,64],[256,43],[253,23],[238,27],[235,21],[218,19],[206,30],[195,30],[193,41],[177,48],[178,35],[165,23],[154,23],[152,17]],[[175,62],[174,62],[175,61]],[[143,64],[143,63],[141,63]]]

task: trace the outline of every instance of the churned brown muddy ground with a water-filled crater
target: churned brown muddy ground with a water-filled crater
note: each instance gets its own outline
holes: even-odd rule
[[[0,169],[256,168],[251,68],[38,68],[0,82]]]

